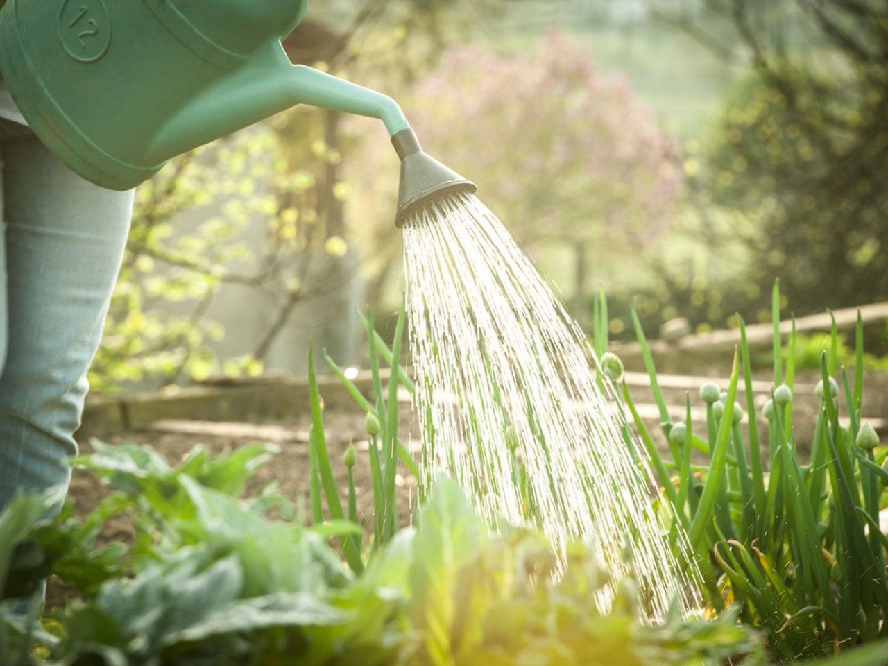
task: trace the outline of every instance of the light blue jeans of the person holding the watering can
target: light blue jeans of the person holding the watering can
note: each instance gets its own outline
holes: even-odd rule
[[[130,227],[132,192],[94,186],[0,120],[0,511],[67,485]]]

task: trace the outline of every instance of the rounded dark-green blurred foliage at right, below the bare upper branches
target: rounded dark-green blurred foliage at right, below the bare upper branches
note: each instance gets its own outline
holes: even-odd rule
[[[855,92],[846,76],[804,68],[789,76],[791,102],[760,78],[728,100],[707,163],[713,198],[756,220],[743,240],[759,284],[785,276],[805,310],[884,298],[888,88],[866,80]]]

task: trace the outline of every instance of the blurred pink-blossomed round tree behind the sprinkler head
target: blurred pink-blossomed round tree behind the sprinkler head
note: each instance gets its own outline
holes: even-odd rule
[[[676,147],[627,81],[596,71],[585,46],[564,33],[514,57],[455,47],[412,88],[405,108],[426,149],[478,184],[522,246],[573,250],[579,304],[590,256],[607,270],[670,221],[682,180]],[[374,161],[358,175],[381,170],[394,173],[397,160]],[[393,201],[396,185],[379,184],[385,198],[377,201]],[[391,203],[358,203],[386,212],[369,229],[392,226]]]

